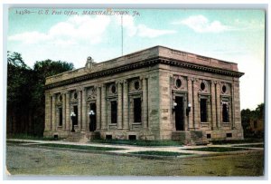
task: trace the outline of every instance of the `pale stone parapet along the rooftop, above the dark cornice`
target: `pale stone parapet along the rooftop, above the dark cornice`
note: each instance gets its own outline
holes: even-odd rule
[[[195,53],[182,52],[176,49],[168,48],[162,45],[156,45],[144,50],[137,51],[135,53],[128,53],[117,58],[107,60],[101,63],[93,63],[93,68],[90,71],[86,71],[85,66],[65,73],[59,73],[46,78],[46,85],[54,82],[61,82],[83,76],[89,73],[98,73],[106,71],[108,69],[120,67],[126,64],[138,63],[145,60],[151,60],[154,58],[164,58],[168,60],[177,61],[180,63],[192,63],[199,66],[210,67],[219,70],[226,70],[238,73],[238,64],[232,62],[226,62],[211,57],[202,56]]]

